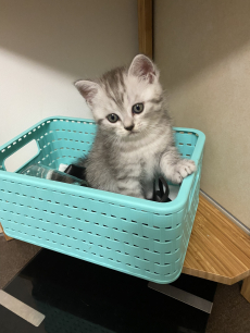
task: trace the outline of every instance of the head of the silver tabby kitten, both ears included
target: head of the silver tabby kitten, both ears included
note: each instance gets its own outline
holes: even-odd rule
[[[159,71],[142,54],[136,55],[128,69],[114,69],[97,81],[77,81],[75,86],[100,130],[120,138],[146,135],[162,112]]]

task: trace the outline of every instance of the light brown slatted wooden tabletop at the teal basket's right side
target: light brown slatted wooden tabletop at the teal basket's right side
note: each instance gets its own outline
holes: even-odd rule
[[[200,195],[183,273],[234,284],[250,301],[250,236]]]

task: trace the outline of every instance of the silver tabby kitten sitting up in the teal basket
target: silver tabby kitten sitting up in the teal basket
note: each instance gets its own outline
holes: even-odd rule
[[[149,58],[139,54],[129,67],[75,85],[98,125],[87,159],[78,161],[91,187],[151,199],[155,175],[182,183],[196,170],[175,147],[159,71]]]

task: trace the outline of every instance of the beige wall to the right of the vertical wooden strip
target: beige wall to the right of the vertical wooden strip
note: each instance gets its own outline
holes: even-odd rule
[[[201,188],[250,227],[250,1],[155,0],[175,125],[207,135]]]

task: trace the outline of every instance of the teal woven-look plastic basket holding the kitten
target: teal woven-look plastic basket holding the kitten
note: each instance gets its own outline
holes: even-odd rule
[[[197,211],[204,134],[174,128],[176,145],[197,163],[172,202],[20,174],[33,163],[58,169],[87,153],[93,121],[49,118],[0,148],[0,221],[7,235],[155,283],[176,280]],[[16,172],[4,160],[35,139],[38,153]]]

